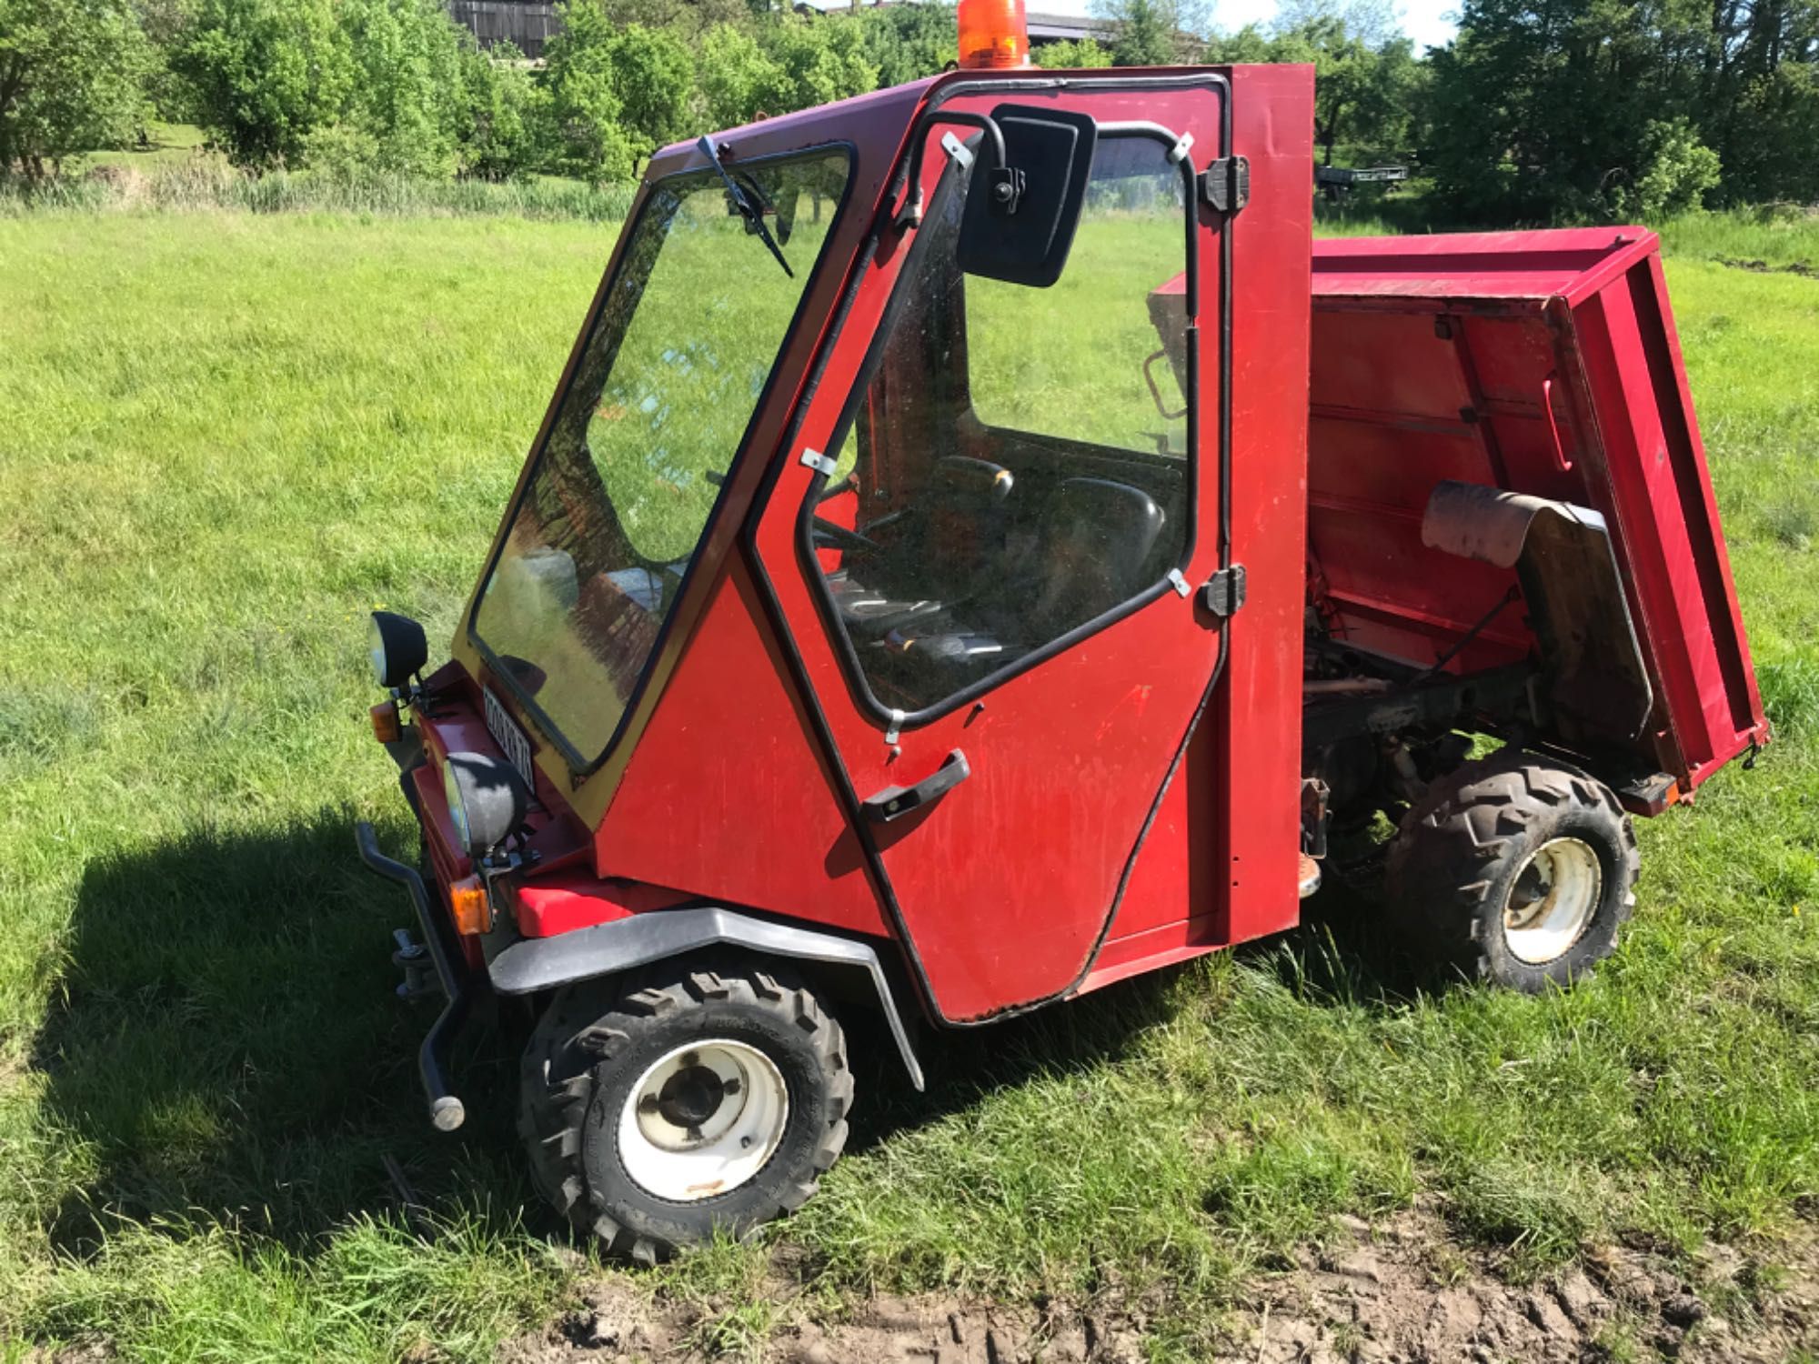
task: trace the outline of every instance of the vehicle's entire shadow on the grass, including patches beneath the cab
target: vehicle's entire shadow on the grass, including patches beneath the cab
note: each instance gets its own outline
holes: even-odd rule
[[[402,818],[380,835],[398,857],[413,840]],[[1368,928],[1368,908],[1326,906],[1326,895],[1315,904],[1321,922],[1293,935],[1290,951],[1281,940],[1241,951],[1335,997],[1388,1000],[1410,984]],[[467,1028],[453,1066],[467,1124],[442,1135],[426,1118],[415,1057],[437,1006],[400,1002],[389,962],[391,929],[409,918],[397,888],[355,855],[347,811],[91,864],[33,1055],[47,1120],[85,1151],[55,1242],[87,1255],[120,1219],[175,1235],[227,1222],[298,1251],[358,1215],[458,1211],[500,1229],[520,1217],[553,1229],[515,1133],[522,1020]],[[848,1149],[1037,1073],[1117,1060],[1175,1017],[1168,982],[1181,969],[1195,968],[990,1028],[922,1029],[924,1093],[910,1088],[882,1022],[842,1009],[866,1097]]]

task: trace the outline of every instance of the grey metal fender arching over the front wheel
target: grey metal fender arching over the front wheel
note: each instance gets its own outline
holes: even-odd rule
[[[862,971],[897,1040],[910,1084],[922,1089],[922,1066],[910,1046],[884,964],[868,944],[835,933],[773,924],[715,906],[653,909],[551,938],[520,938],[491,960],[487,975],[500,995],[531,995],[719,946]]]

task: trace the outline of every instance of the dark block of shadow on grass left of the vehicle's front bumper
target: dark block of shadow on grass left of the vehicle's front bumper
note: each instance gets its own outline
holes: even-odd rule
[[[411,913],[360,864],[353,818],[87,868],[33,1053],[45,1120],[84,1148],[51,1228],[64,1251],[91,1253],[120,1219],[309,1249],[349,1217],[409,1211],[387,1157],[431,1209],[509,1220],[531,1197],[509,1106],[478,1106],[455,1137],[429,1128],[415,1057],[435,1004],[393,993],[389,935]],[[382,842],[415,849],[415,833]],[[475,1088],[515,1078],[484,1035],[458,1062]]]

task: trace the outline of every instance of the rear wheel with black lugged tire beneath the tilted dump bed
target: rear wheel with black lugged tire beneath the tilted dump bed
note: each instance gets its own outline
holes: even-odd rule
[[[1612,955],[1639,871],[1608,786],[1504,749],[1428,787],[1390,846],[1384,893],[1422,955],[1539,993]]]

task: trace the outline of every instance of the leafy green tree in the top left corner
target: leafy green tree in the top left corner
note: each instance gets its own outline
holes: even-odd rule
[[[147,56],[124,0],[0,0],[0,180],[129,138]]]

